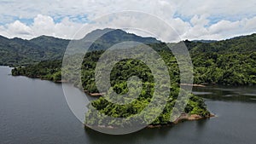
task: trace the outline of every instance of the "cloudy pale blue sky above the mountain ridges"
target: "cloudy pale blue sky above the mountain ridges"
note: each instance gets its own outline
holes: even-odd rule
[[[103,15],[129,10],[158,17],[172,26],[180,39],[221,40],[255,33],[255,8],[255,0],[0,0],[0,35],[73,39],[81,27],[91,25]],[[129,21],[140,23],[147,30],[155,28],[148,24],[150,21],[139,17],[130,19],[119,20],[116,25],[129,26]],[[166,32],[161,26],[157,31]],[[158,38],[168,42],[177,40],[168,32]]]

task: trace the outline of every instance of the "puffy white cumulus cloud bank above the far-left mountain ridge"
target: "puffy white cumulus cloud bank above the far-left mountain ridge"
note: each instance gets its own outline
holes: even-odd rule
[[[64,18],[60,23],[55,23],[50,16],[38,14],[32,25],[28,26],[16,20],[14,23],[0,27],[0,35],[6,37],[23,37],[30,39],[41,35],[61,38],[72,38],[75,32],[84,24],[75,23]]]

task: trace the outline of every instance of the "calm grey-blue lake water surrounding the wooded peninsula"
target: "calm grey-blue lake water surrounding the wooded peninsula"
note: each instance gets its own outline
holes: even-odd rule
[[[0,66],[1,144],[255,144],[256,87],[196,88],[217,118],[131,135],[84,130],[69,110],[61,84],[12,77]],[[75,88],[73,88],[75,89]]]

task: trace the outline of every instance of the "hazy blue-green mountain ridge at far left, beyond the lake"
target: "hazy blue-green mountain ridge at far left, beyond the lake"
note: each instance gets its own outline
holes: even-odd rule
[[[0,37],[0,65],[28,66],[42,60],[60,60],[68,43],[46,36],[32,40]]]

